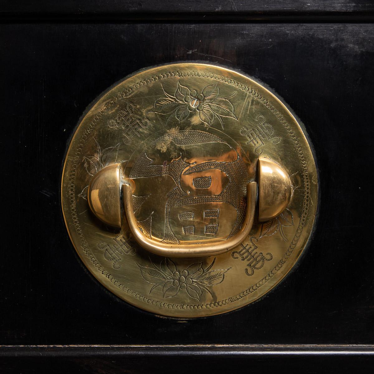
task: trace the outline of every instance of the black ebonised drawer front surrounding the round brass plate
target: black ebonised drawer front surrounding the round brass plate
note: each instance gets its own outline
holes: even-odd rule
[[[351,4],[347,10],[371,6],[340,3]],[[5,4],[3,10],[19,10],[17,2]],[[373,343],[373,24],[36,22],[0,30],[0,344]],[[314,237],[297,269],[256,303],[193,320],[141,311],[95,281],[68,238],[59,190],[68,142],[96,96],[140,68],[183,60],[242,70],[282,96],[315,147],[321,188]],[[42,365],[25,360],[2,359],[0,368],[23,373]],[[139,358],[50,360],[45,370],[141,372]],[[162,368],[155,360],[144,370],[157,362]],[[286,359],[256,360],[273,370]],[[323,367],[302,360],[290,368]],[[364,357],[334,360],[324,368],[369,367]],[[177,358],[164,362],[178,365]]]

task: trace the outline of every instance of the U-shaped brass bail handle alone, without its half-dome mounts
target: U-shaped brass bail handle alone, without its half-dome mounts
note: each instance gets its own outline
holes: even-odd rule
[[[209,243],[196,244],[167,244],[157,242],[144,236],[137,225],[137,220],[132,207],[132,188],[129,184],[123,184],[123,206],[125,209],[126,220],[129,229],[135,240],[144,249],[154,254],[169,257],[207,257],[218,255],[229,251],[240,245],[245,240],[252,229],[255,216],[255,207],[257,200],[257,183],[251,182],[247,184],[247,208],[244,222],[241,229],[234,236],[227,240],[219,240]]]

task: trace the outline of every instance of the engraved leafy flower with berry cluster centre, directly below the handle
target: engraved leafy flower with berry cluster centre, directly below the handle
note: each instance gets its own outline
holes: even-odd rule
[[[156,287],[162,286],[163,297],[173,297],[182,290],[187,292],[190,297],[200,301],[203,291],[210,294],[209,287],[223,282],[224,274],[231,269],[211,270],[214,263],[215,259],[206,269],[203,269],[200,262],[188,266],[187,269],[177,270],[173,261],[165,258],[159,266],[156,266],[152,261],[153,267],[141,266],[138,263],[137,265],[145,281],[153,284],[149,293]]]

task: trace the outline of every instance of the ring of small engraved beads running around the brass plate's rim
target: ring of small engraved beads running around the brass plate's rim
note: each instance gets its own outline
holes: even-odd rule
[[[116,281],[116,279],[108,273],[101,265],[100,263],[96,260],[95,256],[89,251],[87,242],[83,236],[82,230],[80,229],[80,224],[79,220],[77,217],[77,212],[76,212],[76,203],[75,203],[75,173],[76,173],[76,168],[79,163],[80,159],[80,152],[82,151],[83,148],[83,143],[87,140],[88,135],[91,133],[93,128],[95,127],[96,123],[98,122],[99,119],[101,119],[102,114],[105,114],[107,112],[107,109],[112,107],[119,99],[124,99],[131,95],[135,90],[138,88],[145,86],[149,83],[157,82],[158,80],[163,80],[163,79],[168,79],[171,77],[203,77],[203,78],[211,78],[215,80],[220,80],[221,82],[228,83],[230,85],[233,85],[240,90],[247,92],[248,94],[252,95],[254,98],[260,100],[272,113],[278,118],[278,120],[282,123],[282,125],[285,127],[285,129],[288,131],[288,134],[291,136],[292,140],[295,142],[295,147],[298,151],[299,154],[299,159],[301,162],[301,167],[303,169],[303,180],[304,180],[304,201],[303,201],[303,209],[302,209],[302,214],[300,216],[300,222],[298,225],[298,228],[296,230],[294,239],[292,239],[291,245],[289,246],[286,254],[283,256],[283,258],[278,262],[278,264],[271,270],[271,272],[266,275],[261,281],[257,282],[255,285],[251,286],[247,290],[241,292],[238,295],[235,295],[233,297],[229,297],[225,300],[221,301],[215,301],[213,303],[208,303],[208,304],[194,304],[194,305],[185,305],[185,304],[169,304],[169,303],[164,303],[162,301],[156,301],[148,297],[144,297],[143,295],[138,294],[135,291],[132,291],[131,289],[127,288],[125,285],[122,283]],[[88,258],[92,261],[93,265],[104,275],[107,279],[109,279],[114,285],[116,285],[118,288],[122,289],[123,291],[126,291],[128,294],[132,295],[133,297],[137,298],[138,300],[144,301],[148,304],[152,304],[154,306],[159,306],[159,307],[164,307],[168,309],[186,309],[186,310],[193,310],[193,309],[209,309],[209,308],[214,308],[218,307],[221,305],[229,304],[234,301],[240,300],[241,298],[249,295],[250,293],[256,291],[258,288],[260,288],[262,285],[264,285],[267,281],[272,278],[279,269],[283,266],[283,264],[287,261],[289,256],[292,254],[298,239],[300,238],[301,232],[303,231],[305,219],[308,213],[309,209],[309,198],[310,198],[310,180],[309,180],[309,174],[308,174],[308,169],[307,169],[307,163],[304,157],[303,150],[301,149],[301,145],[298,142],[298,139],[294,132],[292,132],[291,126],[286,122],[284,117],[282,117],[281,113],[276,110],[276,108],[270,104],[268,100],[266,100],[263,96],[259,95],[257,92],[255,92],[253,89],[249,88],[246,85],[243,85],[242,83],[237,82],[236,80],[229,79],[227,77],[218,75],[218,74],[212,74],[212,73],[204,73],[204,72],[197,72],[197,71],[175,71],[172,73],[166,73],[166,74],[159,74],[157,76],[151,77],[150,79],[145,79],[142,80],[135,85],[129,87],[126,89],[124,92],[119,93],[118,97],[114,97],[110,101],[108,101],[102,109],[100,110],[100,113],[97,114],[92,122],[89,124],[88,129],[85,130],[83,133],[82,139],[79,142],[79,148],[76,151],[70,174],[69,174],[69,202],[70,202],[70,211],[71,211],[71,216],[73,218],[73,223],[74,227],[76,229],[76,232],[78,236],[81,239],[81,245],[83,248],[83,251],[85,254],[88,256]]]

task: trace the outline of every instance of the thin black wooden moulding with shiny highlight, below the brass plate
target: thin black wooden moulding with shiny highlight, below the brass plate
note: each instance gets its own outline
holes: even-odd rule
[[[2,345],[1,357],[374,356],[374,344]]]

